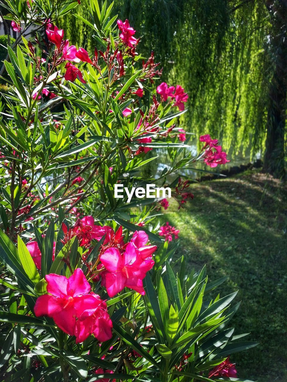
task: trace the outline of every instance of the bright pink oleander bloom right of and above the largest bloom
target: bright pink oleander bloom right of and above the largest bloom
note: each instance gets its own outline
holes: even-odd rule
[[[102,285],[110,297],[121,292],[125,286],[145,294],[142,280],[155,262],[150,258],[143,260],[134,243],[128,243],[123,254],[116,248],[109,248],[99,259],[106,268],[106,272],[102,272]]]

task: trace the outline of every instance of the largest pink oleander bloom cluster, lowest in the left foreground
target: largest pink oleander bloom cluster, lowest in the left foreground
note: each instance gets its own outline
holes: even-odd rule
[[[69,277],[46,275],[48,295],[37,298],[34,313],[37,317],[51,317],[76,342],[94,334],[99,341],[112,337],[112,322],[106,303],[91,292],[91,286],[82,269],[77,268]]]

